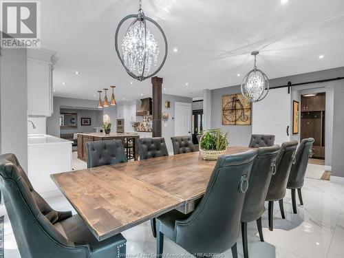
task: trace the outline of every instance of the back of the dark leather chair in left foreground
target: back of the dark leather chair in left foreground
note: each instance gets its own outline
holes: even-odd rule
[[[14,154],[0,156],[0,189],[21,257],[88,257],[87,244],[73,243],[53,226],[72,213],[50,208],[32,188]]]

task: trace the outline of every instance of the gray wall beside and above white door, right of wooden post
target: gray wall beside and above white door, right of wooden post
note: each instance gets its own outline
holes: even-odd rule
[[[166,100],[169,100],[171,102],[169,109],[166,109],[165,107]],[[169,113],[169,120],[167,120],[166,122],[166,127],[164,126],[165,122],[162,122],[162,137],[165,138],[166,146],[169,152],[173,152],[171,136],[175,136],[175,129],[174,129],[175,102],[192,103],[193,100],[192,98],[174,96],[174,95],[169,95],[169,94],[162,94],[162,112],[166,111],[167,113]]]

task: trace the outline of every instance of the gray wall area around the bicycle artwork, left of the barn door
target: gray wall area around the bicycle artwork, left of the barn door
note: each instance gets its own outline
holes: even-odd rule
[[[211,91],[211,128],[229,131],[229,144],[248,146],[252,134],[252,125],[222,125],[222,96],[240,93],[239,86],[213,89]]]

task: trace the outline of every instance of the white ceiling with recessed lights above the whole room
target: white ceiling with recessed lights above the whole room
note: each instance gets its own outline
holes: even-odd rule
[[[343,0],[142,0],[142,8],[169,42],[158,73],[166,94],[197,97],[241,83],[252,50],[269,78],[344,66]],[[96,99],[109,85],[118,100],[151,96],[151,79],[131,78],[114,49],[118,22],[137,10],[132,0],[41,1],[41,47],[58,53],[55,96]]]

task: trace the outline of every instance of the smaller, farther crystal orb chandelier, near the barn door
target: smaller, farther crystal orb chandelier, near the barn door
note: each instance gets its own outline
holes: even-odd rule
[[[257,69],[257,54],[258,51],[251,53],[255,56],[255,66],[248,72],[241,83],[241,93],[250,100],[252,103],[263,100],[269,92],[269,79],[268,76]]]

